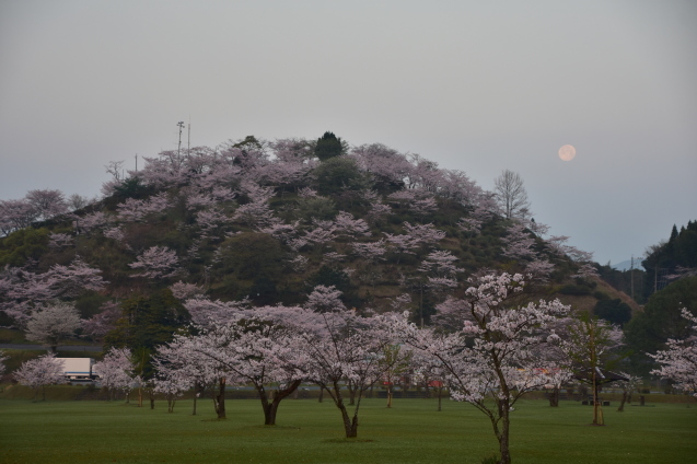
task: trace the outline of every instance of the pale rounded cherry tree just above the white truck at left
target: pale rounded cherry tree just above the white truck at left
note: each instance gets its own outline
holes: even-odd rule
[[[81,325],[74,304],[56,301],[34,311],[26,323],[26,339],[48,346],[56,353],[58,345]]]

